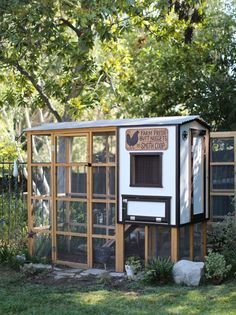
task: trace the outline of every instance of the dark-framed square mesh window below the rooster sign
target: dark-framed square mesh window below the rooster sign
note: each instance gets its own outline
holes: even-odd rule
[[[162,187],[162,153],[130,155],[130,185]]]

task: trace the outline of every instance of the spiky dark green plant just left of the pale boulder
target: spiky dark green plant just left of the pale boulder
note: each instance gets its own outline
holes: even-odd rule
[[[173,265],[170,258],[150,259],[145,267],[144,282],[159,285],[171,282]]]

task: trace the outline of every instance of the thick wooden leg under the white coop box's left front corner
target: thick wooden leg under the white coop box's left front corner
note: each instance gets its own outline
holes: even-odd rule
[[[116,272],[124,271],[124,225],[116,224]]]

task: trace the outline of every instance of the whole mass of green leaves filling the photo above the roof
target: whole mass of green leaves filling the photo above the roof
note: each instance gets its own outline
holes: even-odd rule
[[[105,117],[197,113],[234,128],[235,20],[216,2],[1,1],[3,84],[14,106],[57,120],[68,117],[62,108],[93,119],[93,108]]]

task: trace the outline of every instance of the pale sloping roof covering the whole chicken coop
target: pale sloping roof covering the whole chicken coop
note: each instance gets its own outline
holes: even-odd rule
[[[117,120],[95,120],[95,121],[73,121],[42,124],[40,126],[28,128],[25,131],[50,131],[80,128],[97,127],[132,127],[132,126],[165,126],[182,125],[191,121],[198,121],[209,127],[207,123],[199,116],[170,116],[170,117],[152,117],[152,118],[130,118]]]

